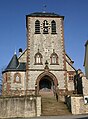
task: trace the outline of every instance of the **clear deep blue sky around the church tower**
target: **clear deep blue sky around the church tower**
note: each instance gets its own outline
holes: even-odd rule
[[[66,53],[74,61],[73,66],[84,72],[88,0],[0,0],[0,70],[8,65],[15,51],[18,54],[19,48],[26,49],[26,15],[43,11],[65,17]]]

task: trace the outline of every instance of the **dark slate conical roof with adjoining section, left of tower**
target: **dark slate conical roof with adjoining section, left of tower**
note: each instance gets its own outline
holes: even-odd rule
[[[26,63],[23,62],[19,63],[17,55],[14,54],[10,63],[2,73],[5,73],[7,71],[26,71]]]

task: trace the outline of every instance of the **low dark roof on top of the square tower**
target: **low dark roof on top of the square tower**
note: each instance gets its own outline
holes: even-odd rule
[[[34,12],[34,13],[31,13],[29,15],[26,15],[26,16],[31,16],[31,17],[63,17],[64,16],[60,16],[59,14],[55,14],[55,13],[49,13],[49,12]]]

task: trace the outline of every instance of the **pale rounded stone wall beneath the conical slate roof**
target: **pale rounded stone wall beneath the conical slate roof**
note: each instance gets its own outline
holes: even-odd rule
[[[19,74],[20,80],[16,81]],[[25,95],[26,73],[21,71],[9,71],[3,73],[2,95]]]

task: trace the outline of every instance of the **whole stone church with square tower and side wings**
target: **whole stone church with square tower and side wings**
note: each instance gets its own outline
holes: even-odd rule
[[[19,49],[2,72],[3,96],[57,92],[61,100],[74,92],[74,61],[64,42],[64,16],[35,12],[26,15],[27,47]]]

